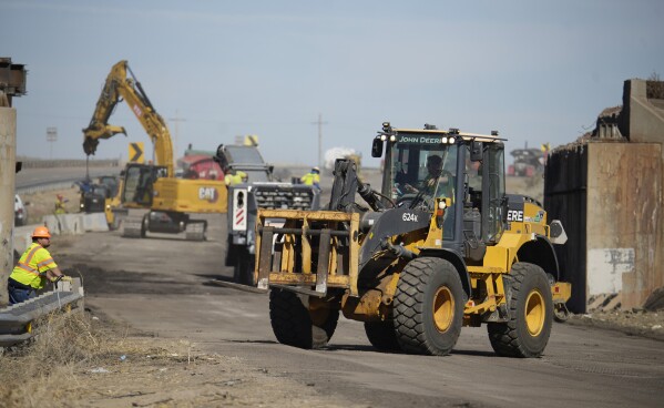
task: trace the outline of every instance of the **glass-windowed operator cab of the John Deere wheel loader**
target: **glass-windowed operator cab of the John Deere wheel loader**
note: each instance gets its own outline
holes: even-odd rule
[[[481,262],[487,246],[498,242],[505,223],[501,139],[433,126],[405,130],[384,124],[384,131],[375,139],[372,155],[382,149],[382,194],[396,206],[431,212],[435,198],[450,198],[451,206],[443,217],[442,246],[470,263]]]

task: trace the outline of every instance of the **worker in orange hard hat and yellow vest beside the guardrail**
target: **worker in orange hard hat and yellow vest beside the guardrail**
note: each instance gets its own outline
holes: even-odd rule
[[[32,232],[32,244],[25,249],[19,263],[9,275],[9,304],[24,302],[37,296],[37,290],[50,282],[71,282],[71,277],[60,272],[58,264],[47,251],[51,245],[51,233],[45,226]]]

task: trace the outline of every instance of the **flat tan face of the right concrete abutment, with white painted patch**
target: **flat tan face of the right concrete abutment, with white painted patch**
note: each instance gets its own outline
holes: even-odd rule
[[[664,285],[661,242],[662,145],[588,144],[588,295],[621,294],[622,308]]]

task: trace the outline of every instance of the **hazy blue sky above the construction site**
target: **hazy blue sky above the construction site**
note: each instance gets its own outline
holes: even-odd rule
[[[384,121],[555,146],[621,104],[624,80],[664,75],[661,1],[1,0],[0,16],[0,55],[29,70],[17,151],[41,157],[84,157],[81,130],[120,60],[170,120],[177,155],[257,134],[266,160],[300,164],[318,160],[318,114],[323,151],[369,164]],[[110,122],[129,137],[96,157],[150,145],[126,104]]]

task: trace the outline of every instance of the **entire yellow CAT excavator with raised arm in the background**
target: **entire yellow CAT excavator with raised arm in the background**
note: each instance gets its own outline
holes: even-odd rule
[[[90,156],[96,152],[100,140],[119,133],[126,135],[124,128],[109,124],[115,106],[123,100],[152,140],[156,159],[156,164],[127,163],[122,172],[119,197],[111,198],[109,206],[114,216],[124,218],[123,236],[185,232],[187,239],[205,239],[207,223],[194,220],[190,214],[225,213],[226,185],[216,180],[175,178],[173,143],[166,122],[124,60],[113,65],[106,76],[90,125],[83,130],[83,151]],[[136,216],[129,213],[130,208],[150,212]],[[118,224],[114,220],[110,223]]]

